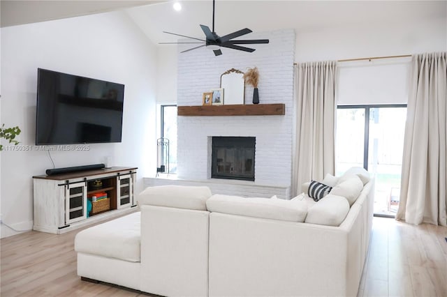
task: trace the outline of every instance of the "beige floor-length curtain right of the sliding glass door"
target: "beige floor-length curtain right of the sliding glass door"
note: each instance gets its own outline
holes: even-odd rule
[[[396,219],[447,226],[446,52],[414,55]]]

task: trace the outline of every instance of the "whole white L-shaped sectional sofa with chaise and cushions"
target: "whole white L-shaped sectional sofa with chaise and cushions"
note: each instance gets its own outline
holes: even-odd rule
[[[374,201],[362,170],[326,176],[351,197],[318,202],[147,188],[140,213],[76,236],[78,275],[162,296],[356,296]],[[359,176],[357,197],[337,188]]]

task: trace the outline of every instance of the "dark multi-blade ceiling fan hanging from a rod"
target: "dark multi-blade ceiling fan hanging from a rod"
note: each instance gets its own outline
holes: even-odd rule
[[[251,33],[251,31],[248,28],[241,29],[239,31],[235,31],[233,33],[227,34],[225,36],[219,36],[214,31],[214,7],[215,7],[215,0],[212,1],[212,31],[210,30],[210,27],[205,26],[203,24],[200,25],[200,28],[202,28],[203,33],[205,33],[205,40],[200,38],[194,38],[190,36],[184,36],[177,33],[171,33],[163,31],[163,33],[168,33],[176,36],[191,38],[194,40],[200,40],[200,43],[203,43],[203,45],[199,45],[198,47],[193,47],[189,50],[184,50],[182,52],[189,52],[190,50],[196,50],[199,47],[208,47],[211,50],[213,50],[214,55],[219,56],[222,54],[220,47],[228,47],[233,50],[242,50],[244,52],[254,52],[255,49],[252,49],[250,47],[243,47],[240,45],[254,45],[254,44],[261,44],[261,43],[269,43],[268,39],[251,39],[251,40],[233,40],[233,38],[237,38],[240,36],[243,36],[245,34]],[[182,43],[182,42],[179,42]],[[179,44],[179,43],[160,43],[160,44]],[[198,43],[198,42],[183,42],[183,43]]]

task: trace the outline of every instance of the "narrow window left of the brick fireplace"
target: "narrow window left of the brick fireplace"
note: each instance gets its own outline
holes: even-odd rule
[[[160,105],[160,137],[169,143],[164,149],[157,147],[159,165],[169,165],[165,173],[177,173],[177,105]]]

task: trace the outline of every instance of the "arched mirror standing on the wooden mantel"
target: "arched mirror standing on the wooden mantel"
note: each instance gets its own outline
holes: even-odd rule
[[[221,89],[225,90],[225,105],[244,104],[244,73],[235,68],[222,73]]]

